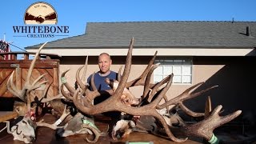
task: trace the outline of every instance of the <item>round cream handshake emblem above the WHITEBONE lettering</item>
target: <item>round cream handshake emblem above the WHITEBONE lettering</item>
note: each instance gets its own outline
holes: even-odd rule
[[[25,24],[57,24],[57,13],[46,2],[35,2],[26,9]]]

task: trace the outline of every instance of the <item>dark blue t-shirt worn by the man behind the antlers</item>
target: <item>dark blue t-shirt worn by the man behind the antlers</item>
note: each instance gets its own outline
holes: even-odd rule
[[[91,77],[92,77],[92,74],[90,74],[90,77],[87,78],[87,82],[90,84],[90,90],[92,90],[91,83],[90,83]],[[118,73],[116,73],[114,71],[110,71],[110,74],[106,75],[105,77],[100,76],[98,72],[95,73],[94,74],[94,84],[95,84],[97,90],[102,91],[102,90],[110,90],[111,89],[111,87],[105,82],[106,78],[117,79]]]

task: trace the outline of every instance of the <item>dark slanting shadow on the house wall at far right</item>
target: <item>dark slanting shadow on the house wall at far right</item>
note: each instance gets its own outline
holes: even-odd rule
[[[238,120],[244,120],[248,114],[256,115],[255,96],[256,96],[256,70],[253,69],[256,58],[236,58],[226,63],[221,70],[209,78],[197,90],[204,90],[210,86],[216,86],[213,90],[192,98],[185,103],[191,110],[203,112],[206,98],[210,96],[212,109],[222,105],[222,115],[230,114],[236,110],[242,110]],[[256,116],[251,117],[250,121],[256,122]]]

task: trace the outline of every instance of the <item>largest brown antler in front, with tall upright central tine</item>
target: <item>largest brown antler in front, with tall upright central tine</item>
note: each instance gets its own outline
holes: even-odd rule
[[[114,91],[114,94],[110,98],[107,98],[105,101],[98,103],[94,106],[86,106],[83,105],[80,101],[81,96],[78,97],[79,90],[76,90],[74,93],[74,105],[81,110],[85,114],[101,114],[107,111],[122,111],[126,114],[132,114],[132,115],[153,115],[155,118],[158,118],[160,122],[162,122],[166,133],[168,136],[175,142],[184,142],[186,139],[178,139],[175,138],[174,135],[170,132],[170,129],[168,128],[168,125],[166,124],[164,118],[160,114],[158,114],[158,111],[155,109],[155,107],[158,105],[158,102],[162,99],[163,95],[166,93],[166,91],[169,89],[171,85],[171,78],[172,76],[169,76],[169,82],[167,86],[161,91],[158,98],[154,100],[154,102],[151,102],[149,105],[146,106],[140,106],[140,107],[133,107],[133,106],[126,106],[122,103],[120,100],[123,90],[126,86],[127,79],[130,74],[130,66],[131,66],[131,58],[132,58],[132,49],[134,45],[134,38],[132,38],[130,42],[130,47],[128,50],[128,54],[126,57],[126,66],[124,68],[124,72],[122,75],[122,79],[118,85],[117,90]],[[151,66],[150,66],[151,67]],[[150,68],[149,68],[150,70]],[[90,95],[86,95],[84,98],[89,98]]]

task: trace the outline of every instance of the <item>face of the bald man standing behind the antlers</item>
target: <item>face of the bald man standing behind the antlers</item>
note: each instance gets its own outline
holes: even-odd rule
[[[111,59],[107,54],[102,54],[98,57],[98,67],[102,74],[105,74],[110,70]]]

